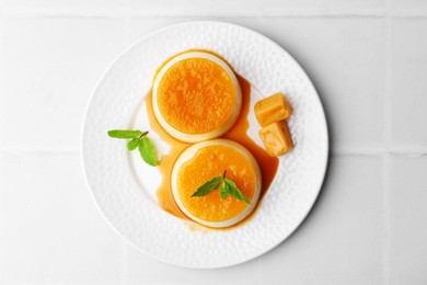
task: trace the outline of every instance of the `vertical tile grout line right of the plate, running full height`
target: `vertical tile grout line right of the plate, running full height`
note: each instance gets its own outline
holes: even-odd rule
[[[384,145],[388,150],[383,157],[383,207],[384,207],[384,246],[383,246],[383,282],[390,284],[390,160],[392,149],[392,15],[390,1],[388,1],[388,14],[384,18],[385,26],[385,75],[384,75]]]

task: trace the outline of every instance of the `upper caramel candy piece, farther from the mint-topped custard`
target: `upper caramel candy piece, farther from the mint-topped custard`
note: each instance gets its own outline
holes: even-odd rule
[[[284,94],[276,93],[255,104],[255,116],[262,127],[284,121],[292,114],[292,109]]]

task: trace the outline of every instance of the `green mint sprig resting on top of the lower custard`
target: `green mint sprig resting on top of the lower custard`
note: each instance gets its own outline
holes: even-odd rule
[[[227,198],[231,195],[236,200],[243,200],[246,204],[251,204],[251,201],[238,189],[231,179],[226,178],[226,174],[227,170],[224,170],[222,175],[215,176],[205,182],[196,190],[196,192],[193,193],[192,197],[206,196],[221,185],[219,189],[219,195],[221,198]]]

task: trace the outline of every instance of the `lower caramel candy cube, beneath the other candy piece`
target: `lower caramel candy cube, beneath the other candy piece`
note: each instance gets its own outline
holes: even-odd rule
[[[293,147],[288,125],[284,121],[263,127],[258,134],[264,142],[265,150],[270,157],[284,155]]]

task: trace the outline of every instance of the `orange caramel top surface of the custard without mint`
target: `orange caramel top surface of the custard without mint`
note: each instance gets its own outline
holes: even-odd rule
[[[235,104],[234,84],[218,64],[186,58],[163,75],[158,105],[164,119],[186,134],[204,134],[228,122]]]

